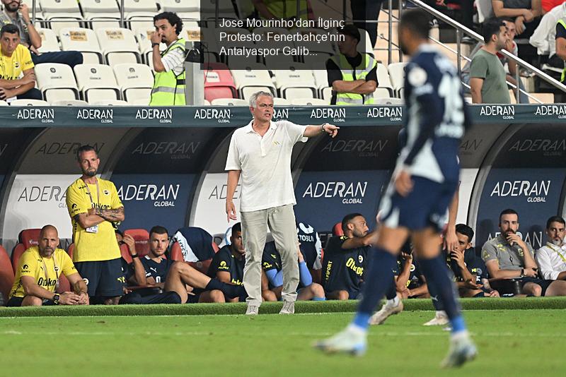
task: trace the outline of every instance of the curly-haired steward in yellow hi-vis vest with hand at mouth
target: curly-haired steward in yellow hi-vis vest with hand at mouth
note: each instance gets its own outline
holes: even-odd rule
[[[151,35],[154,63],[154,88],[150,106],[179,106],[185,102],[185,40],[180,38],[183,21],[172,12],[154,16],[155,30]],[[159,51],[159,44],[167,45]]]

